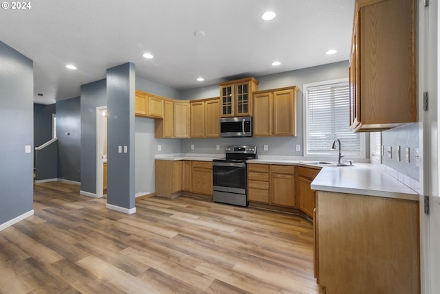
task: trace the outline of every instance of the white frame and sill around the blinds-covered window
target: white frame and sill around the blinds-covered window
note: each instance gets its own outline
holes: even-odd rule
[[[303,142],[304,142],[304,156],[305,157],[334,157],[335,154],[338,152],[336,150],[329,151],[329,152],[309,152],[308,148],[308,125],[307,125],[307,89],[311,87],[320,87],[330,84],[340,84],[347,82],[349,83],[349,78],[340,78],[335,80],[324,80],[321,82],[311,82],[307,84],[303,84]],[[349,126],[349,122],[347,122],[347,126]],[[329,146],[331,148],[331,146]],[[366,159],[366,135],[365,133],[360,133],[360,154],[355,154],[353,152],[349,151],[342,151],[342,155],[345,155],[345,158],[352,158],[352,159]]]

